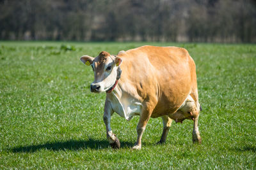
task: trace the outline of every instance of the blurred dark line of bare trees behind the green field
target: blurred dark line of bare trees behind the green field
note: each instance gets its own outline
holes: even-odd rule
[[[0,0],[0,39],[256,42],[253,0]]]

